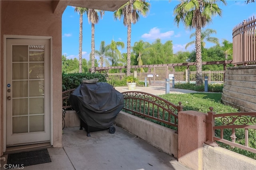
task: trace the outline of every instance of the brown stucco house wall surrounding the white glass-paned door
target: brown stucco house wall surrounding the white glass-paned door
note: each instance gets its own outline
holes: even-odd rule
[[[62,146],[62,12],[53,13],[51,1],[1,1],[0,94],[3,94],[4,35],[52,36],[53,146]],[[0,98],[1,145],[3,151],[3,100]]]

